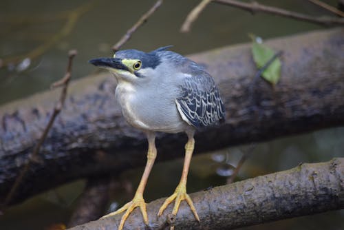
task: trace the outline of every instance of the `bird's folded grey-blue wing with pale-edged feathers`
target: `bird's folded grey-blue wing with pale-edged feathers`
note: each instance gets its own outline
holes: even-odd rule
[[[186,123],[200,128],[224,121],[224,103],[208,73],[201,71],[194,76],[189,75],[180,87],[182,94],[176,103]]]

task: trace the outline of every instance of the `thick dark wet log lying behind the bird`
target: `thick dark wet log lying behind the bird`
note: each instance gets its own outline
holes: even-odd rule
[[[324,127],[344,125],[344,30],[310,32],[266,45],[283,50],[275,88],[254,82],[250,44],[190,56],[205,65],[224,98],[226,123],[200,130],[195,153]],[[122,118],[114,77],[75,81],[65,108],[30,166],[12,204],[63,182],[144,165],[145,136]],[[45,92],[0,108],[0,202],[36,144],[58,92]],[[158,158],[184,155],[184,134],[160,134]]]

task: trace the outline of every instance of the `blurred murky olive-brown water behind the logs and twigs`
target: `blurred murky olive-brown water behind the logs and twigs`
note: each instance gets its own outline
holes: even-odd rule
[[[149,51],[174,45],[175,52],[192,54],[250,42],[249,33],[270,39],[322,29],[312,23],[268,14],[252,15],[211,3],[193,24],[191,32],[180,33],[186,15],[199,2],[165,0],[122,49]],[[323,2],[334,7],[338,3],[336,0]],[[64,75],[70,49],[78,50],[73,79],[87,76],[94,71],[87,61],[98,56],[111,56],[111,46],[153,3],[155,0],[1,0],[0,59],[3,67],[0,68],[0,105],[48,90]],[[308,0],[261,0],[259,3],[304,14],[334,16]],[[290,169],[301,162],[315,163],[343,157],[342,149],[344,127],[337,127],[202,154],[193,157],[188,192],[226,184],[243,154],[249,154],[249,157],[237,180]],[[144,194],[147,202],[169,196],[174,191],[182,162],[180,159],[155,164]],[[126,171],[120,177],[132,182],[135,190],[141,174],[142,168]],[[67,223],[84,188],[85,180],[78,180],[11,207],[0,216],[0,229],[48,229],[53,224]],[[109,209],[116,209],[130,199],[131,194],[123,191],[111,200]],[[344,229],[343,220],[343,210],[331,211],[245,229]]]

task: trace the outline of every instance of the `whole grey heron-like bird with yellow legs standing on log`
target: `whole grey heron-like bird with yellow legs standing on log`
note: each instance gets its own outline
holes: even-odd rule
[[[224,122],[226,113],[213,77],[201,65],[169,48],[171,45],[151,52],[119,50],[112,57],[89,61],[114,74],[117,81],[115,96],[122,116],[127,123],[142,130],[148,140],[147,164],[133,200],[103,216],[107,218],[124,212],[119,230],[136,207],[140,207],[144,223],[149,224],[143,193],[157,155],[157,132],[184,132],[188,137],[180,182],[160,207],[158,216],[173,200],[172,214],[176,216],[180,202],[186,200],[195,219],[200,222],[193,201],[186,193],[186,180],[195,146],[194,134],[199,129]]]

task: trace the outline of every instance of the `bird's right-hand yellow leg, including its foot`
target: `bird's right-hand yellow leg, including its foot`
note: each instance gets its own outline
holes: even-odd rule
[[[175,200],[175,204],[173,207],[172,214],[176,215],[180,206],[180,202],[182,200],[186,200],[186,202],[189,204],[191,211],[193,211],[193,215],[195,218],[200,221],[200,218],[197,215],[197,211],[195,209],[195,206],[193,205],[193,202],[188,194],[186,194],[186,180],[188,177],[189,167],[190,167],[190,161],[191,156],[193,154],[193,148],[195,146],[195,139],[193,138],[193,133],[188,134],[189,140],[185,145],[185,158],[184,158],[184,167],[182,172],[182,178],[180,178],[179,185],[175,189],[175,192],[165,200],[164,204],[160,207],[158,216],[162,215],[162,212],[164,212],[164,209]]]

